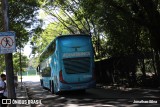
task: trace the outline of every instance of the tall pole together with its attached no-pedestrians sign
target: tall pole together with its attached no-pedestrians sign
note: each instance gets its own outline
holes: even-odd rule
[[[12,33],[7,33],[9,31],[9,20],[8,20],[8,0],[1,0],[1,12],[2,12],[2,26],[3,31],[1,33],[0,41],[0,51],[5,54],[5,64],[6,64],[6,76],[7,76],[7,91],[8,98],[16,98],[15,87],[14,87],[14,73],[13,73],[13,59],[12,53],[15,51],[15,39]],[[4,35],[3,35],[4,34]],[[16,107],[16,105],[8,105],[8,107]]]

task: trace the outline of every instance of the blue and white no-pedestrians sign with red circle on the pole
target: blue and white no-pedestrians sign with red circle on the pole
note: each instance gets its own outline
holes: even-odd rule
[[[15,32],[0,32],[0,54],[16,51]]]

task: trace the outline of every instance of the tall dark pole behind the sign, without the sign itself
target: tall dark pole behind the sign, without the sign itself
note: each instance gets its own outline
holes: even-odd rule
[[[3,31],[9,31],[8,22],[8,0],[1,0],[2,5],[2,19],[3,19]],[[6,64],[6,77],[7,77],[7,91],[8,98],[16,98],[14,87],[14,73],[13,73],[13,60],[12,53],[5,54]],[[16,107],[16,105],[8,105],[8,107]]]

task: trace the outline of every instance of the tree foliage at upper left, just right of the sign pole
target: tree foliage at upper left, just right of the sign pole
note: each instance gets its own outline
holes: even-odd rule
[[[37,33],[41,31],[41,20],[37,18],[37,13],[40,6],[39,2],[40,0],[8,0],[9,30],[16,32],[17,50],[24,47],[33,32]],[[1,11],[0,16],[2,16]],[[2,25],[2,20],[0,20],[0,25]],[[2,32],[2,26],[0,26],[0,31]],[[15,72],[19,71],[19,59],[17,55],[18,53],[14,54],[14,57],[16,58],[13,59],[15,60],[15,62],[13,61]],[[26,57],[23,56],[23,58],[25,61],[27,60]],[[0,70],[4,71],[4,55],[0,55],[0,60],[2,62]]]

